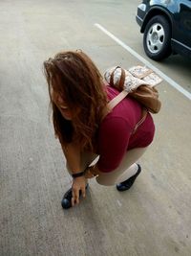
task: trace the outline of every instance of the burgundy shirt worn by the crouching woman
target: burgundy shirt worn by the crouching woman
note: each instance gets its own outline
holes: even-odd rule
[[[119,92],[107,86],[108,99],[112,100]],[[132,134],[141,119],[141,106],[134,99],[126,97],[103,119],[98,130],[98,169],[103,173],[114,171],[126,151],[147,147],[155,133],[155,125],[150,113],[145,121]]]

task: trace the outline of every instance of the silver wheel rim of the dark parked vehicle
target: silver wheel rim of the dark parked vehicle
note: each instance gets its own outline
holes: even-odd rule
[[[164,29],[159,23],[155,23],[151,26],[146,36],[146,44],[148,50],[152,54],[157,54],[161,50],[164,44]]]

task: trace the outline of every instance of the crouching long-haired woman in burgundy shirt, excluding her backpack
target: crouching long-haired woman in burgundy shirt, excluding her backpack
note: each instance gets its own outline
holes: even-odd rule
[[[130,189],[141,171],[136,162],[153,141],[151,115],[133,132],[142,106],[126,97],[109,108],[119,91],[103,81],[94,62],[81,51],[58,53],[44,62],[44,68],[55,135],[73,176],[62,207],[78,204],[81,195],[85,198],[88,178],[96,177],[105,186],[116,184],[118,191]]]

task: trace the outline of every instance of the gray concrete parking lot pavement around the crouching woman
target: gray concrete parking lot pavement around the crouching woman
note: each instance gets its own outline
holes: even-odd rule
[[[135,186],[120,194],[91,180],[79,206],[60,205],[71,178],[53,137],[42,63],[60,50],[82,49],[102,72],[139,64],[94,25],[146,58],[135,21],[139,2],[0,1],[1,256],[191,255],[191,103],[166,81]],[[190,59],[151,63],[191,92]]]

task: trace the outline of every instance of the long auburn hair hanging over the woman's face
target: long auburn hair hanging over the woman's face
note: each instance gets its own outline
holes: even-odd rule
[[[101,74],[94,62],[82,51],[67,51],[44,62],[51,105],[53,127],[62,146],[77,142],[82,149],[93,149],[96,131],[107,105]],[[63,97],[73,113],[66,120],[53,103],[52,90]]]

